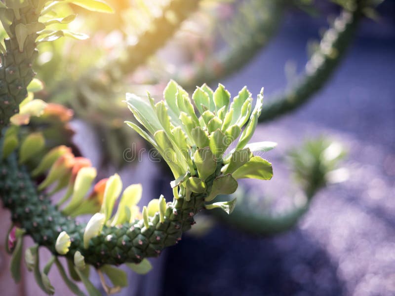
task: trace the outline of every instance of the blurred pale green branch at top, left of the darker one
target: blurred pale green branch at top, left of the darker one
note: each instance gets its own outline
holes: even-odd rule
[[[234,37],[235,44],[208,57],[203,65],[195,66],[192,74],[177,74],[175,80],[179,81],[183,87],[191,89],[196,85],[210,84],[239,71],[275,35],[282,20],[284,8],[284,1],[252,0],[241,3],[237,15],[232,20],[235,24],[243,24],[242,35]],[[252,21],[248,22],[246,18],[251,18]],[[237,29],[240,30],[240,28]]]

